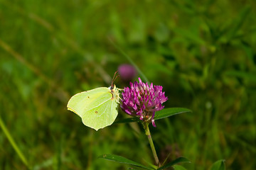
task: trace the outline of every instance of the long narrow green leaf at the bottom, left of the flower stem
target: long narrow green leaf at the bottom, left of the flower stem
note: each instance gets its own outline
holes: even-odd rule
[[[103,159],[107,159],[107,160],[110,160],[110,161],[119,162],[119,163],[122,163],[122,164],[130,164],[130,165],[134,165],[134,166],[139,166],[142,169],[150,169],[151,170],[151,168],[149,168],[149,167],[146,167],[142,164],[139,164],[137,162],[129,160],[125,157],[121,157],[121,156],[114,155],[114,154],[102,154],[98,158],[103,158]]]

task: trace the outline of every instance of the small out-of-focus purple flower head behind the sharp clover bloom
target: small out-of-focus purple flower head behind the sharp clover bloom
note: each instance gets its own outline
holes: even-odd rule
[[[118,73],[123,81],[132,81],[137,76],[137,71],[131,64],[121,64]]]

